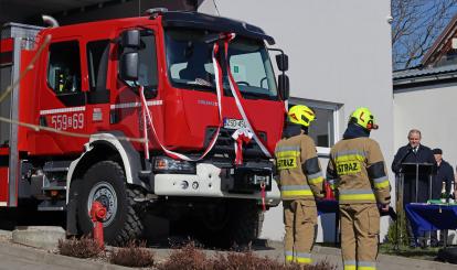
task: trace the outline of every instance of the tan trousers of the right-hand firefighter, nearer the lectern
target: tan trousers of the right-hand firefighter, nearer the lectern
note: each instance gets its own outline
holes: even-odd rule
[[[380,235],[376,204],[341,204],[340,218],[344,270],[375,270]]]

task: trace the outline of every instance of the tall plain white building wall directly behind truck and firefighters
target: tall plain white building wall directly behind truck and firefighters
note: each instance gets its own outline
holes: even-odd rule
[[[215,4],[214,4],[215,3]],[[369,107],[387,168],[393,149],[390,0],[205,0],[200,12],[261,26],[289,55],[291,97],[342,105],[338,137],[357,107]],[[326,165],[326,164],[322,164]],[[393,184],[393,175],[391,174]],[[382,235],[387,218],[382,220]],[[269,210],[263,235],[281,239],[281,208]]]

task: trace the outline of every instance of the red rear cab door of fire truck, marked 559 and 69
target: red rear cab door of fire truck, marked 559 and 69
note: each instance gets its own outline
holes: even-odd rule
[[[64,132],[86,132],[87,82],[83,79],[81,42],[77,37],[53,40],[42,63],[39,88],[40,125],[57,132],[41,131],[36,136],[36,154],[71,154],[81,152],[87,139]],[[61,133],[59,133],[61,132]]]

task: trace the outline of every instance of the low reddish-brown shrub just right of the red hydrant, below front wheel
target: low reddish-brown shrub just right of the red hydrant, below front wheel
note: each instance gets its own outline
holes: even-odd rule
[[[146,242],[127,242],[126,247],[113,250],[109,262],[124,267],[152,267],[155,253],[146,248]]]

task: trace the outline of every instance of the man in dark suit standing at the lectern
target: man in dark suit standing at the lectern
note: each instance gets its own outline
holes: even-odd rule
[[[417,129],[410,130],[407,134],[408,143],[404,147],[401,147],[395,154],[395,158],[392,162],[392,171],[398,175],[402,172],[402,164],[404,163],[429,163],[436,166],[435,156],[429,148],[421,144],[422,134]],[[416,201],[416,175],[415,173],[403,172],[403,206]],[[402,191],[398,191],[402,192]],[[419,174],[418,175],[418,188],[417,188],[417,203],[426,203],[429,197],[428,188],[428,175]],[[417,239],[413,237],[413,231],[410,223],[406,223],[408,235],[410,235],[410,246],[416,247]],[[424,237],[421,236],[421,237]],[[425,239],[423,239],[423,246],[425,247]]]

